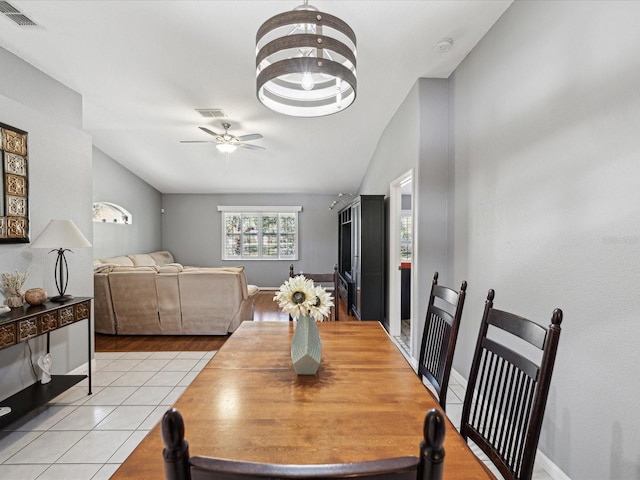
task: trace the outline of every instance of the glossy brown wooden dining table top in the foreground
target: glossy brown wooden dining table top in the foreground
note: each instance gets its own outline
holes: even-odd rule
[[[323,322],[316,375],[291,365],[296,322],[246,321],[178,399],[191,455],[321,464],[419,455],[439,408],[379,322]],[[446,419],[446,480],[492,479]],[[157,425],[114,479],[162,479]]]

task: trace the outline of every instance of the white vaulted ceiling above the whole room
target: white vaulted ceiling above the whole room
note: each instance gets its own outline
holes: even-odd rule
[[[419,77],[447,78],[512,0],[317,0],[358,40],[358,94],[343,112],[287,117],[255,95],[255,34],[302,3],[10,0],[37,27],[0,15],[0,46],[83,96],[94,145],[163,193],[357,192],[386,125]],[[448,53],[434,45],[454,40]],[[222,108],[235,135],[225,156],[197,127]]]

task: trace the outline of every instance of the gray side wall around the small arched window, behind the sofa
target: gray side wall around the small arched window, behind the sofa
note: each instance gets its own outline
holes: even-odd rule
[[[151,185],[93,147],[93,201],[120,205],[131,213],[130,225],[93,224],[94,258],[160,250],[162,195]]]

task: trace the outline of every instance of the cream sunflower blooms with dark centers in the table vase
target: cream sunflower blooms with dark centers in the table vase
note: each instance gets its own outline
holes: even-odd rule
[[[284,282],[273,299],[283,312],[292,317],[308,315],[317,322],[328,317],[333,306],[331,294],[304,275],[296,275]]]

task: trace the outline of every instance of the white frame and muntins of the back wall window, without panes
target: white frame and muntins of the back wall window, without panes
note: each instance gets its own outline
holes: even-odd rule
[[[298,260],[298,251],[300,245],[300,228],[299,228],[299,212],[302,211],[301,206],[287,206],[287,205],[263,205],[263,206],[227,206],[227,205],[219,205],[218,211],[221,215],[221,259],[223,261],[255,261],[255,260]],[[293,255],[282,255],[280,253],[280,248],[282,245],[282,237],[285,235],[281,231],[281,215],[283,216],[291,216],[294,217],[294,241]],[[229,216],[240,216],[240,232],[235,235],[240,235],[240,255],[230,256],[227,253],[227,239],[233,233],[227,232],[227,218]],[[256,216],[257,220],[255,221],[255,225],[257,225],[258,231],[251,236],[255,236],[257,238],[257,255],[245,255],[245,245],[249,245],[249,243],[245,242],[246,232],[244,231],[244,219],[250,216]],[[274,233],[264,233],[263,232],[263,217],[264,216],[276,216],[277,217],[277,232]],[[277,255],[276,256],[265,256],[265,245],[264,238],[265,235],[276,235],[277,236]],[[291,235],[287,233],[287,235]]]

